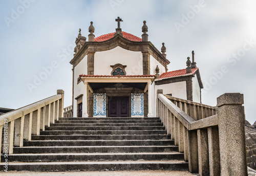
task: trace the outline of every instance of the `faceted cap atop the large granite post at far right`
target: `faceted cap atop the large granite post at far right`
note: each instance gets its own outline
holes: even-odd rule
[[[244,104],[244,94],[225,93],[217,98],[217,106],[224,104]]]

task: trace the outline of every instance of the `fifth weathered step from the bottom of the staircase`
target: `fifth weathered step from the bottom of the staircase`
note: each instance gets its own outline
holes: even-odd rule
[[[166,140],[170,135],[32,135],[32,140]]]

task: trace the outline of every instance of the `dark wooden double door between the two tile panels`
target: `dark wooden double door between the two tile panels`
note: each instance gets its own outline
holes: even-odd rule
[[[109,117],[129,117],[129,97],[109,97]]]

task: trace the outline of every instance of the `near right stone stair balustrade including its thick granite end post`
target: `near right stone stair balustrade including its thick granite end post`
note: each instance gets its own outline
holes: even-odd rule
[[[161,90],[157,92],[157,115],[179,152],[184,152],[190,172],[247,175],[243,94],[223,94],[217,98],[217,115],[194,120]]]

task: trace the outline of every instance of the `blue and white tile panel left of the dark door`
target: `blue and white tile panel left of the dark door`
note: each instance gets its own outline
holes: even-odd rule
[[[94,94],[93,117],[106,117],[106,94]]]

